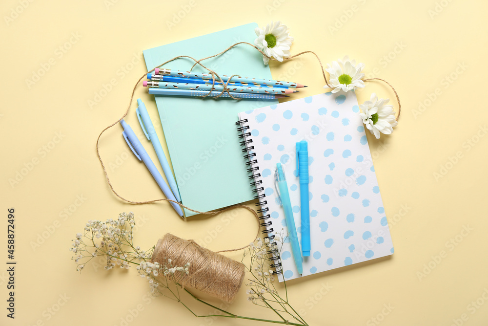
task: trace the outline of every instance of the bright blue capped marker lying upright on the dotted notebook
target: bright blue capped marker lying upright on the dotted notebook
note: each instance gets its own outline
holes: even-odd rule
[[[300,213],[302,216],[302,253],[310,256],[310,208],[308,207],[308,145],[306,140],[296,143],[297,172],[300,180]]]

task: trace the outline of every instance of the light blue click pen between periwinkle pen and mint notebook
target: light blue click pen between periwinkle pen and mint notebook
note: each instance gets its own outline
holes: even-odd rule
[[[161,146],[158,134],[154,129],[151,118],[149,117],[149,113],[147,113],[146,106],[144,105],[144,103],[142,103],[141,99],[137,99],[137,105],[138,107],[136,109],[136,114],[137,119],[139,119],[139,124],[141,124],[142,131],[144,132],[147,140],[151,141],[151,144],[154,147],[154,151],[156,151],[156,155],[158,155],[158,159],[161,163],[161,167],[163,168],[164,175],[166,176],[166,180],[168,180],[169,187],[173,191],[176,200],[181,202],[182,198],[180,197],[180,191],[178,190],[178,186],[176,185],[175,177],[173,176],[173,172],[169,167],[166,155],[164,155],[163,147]]]

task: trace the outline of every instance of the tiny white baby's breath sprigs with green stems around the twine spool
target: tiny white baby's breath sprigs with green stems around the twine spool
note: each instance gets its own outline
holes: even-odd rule
[[[144,251],[141,250],[141,247],[134,246],[132,239],[134,226],[135,220],[133,213],[121,213],[119,214],[119,218],[115,220],[107,219],[104,222],[101,220],[89,220],[84,226],[84,231],[76,234],[69,249],[73,253],[72,260],[78,266],[77,270],[81,271],[86,266],[86,263],[96,257],[104,257],[106,259],[105,270],[113,269],[116,266],[128,269],[132,264],[135,264],[137,265],[136,269],[139,275],[148,281],[151,293],[154,295],[162,295],[182,304],[195,317],[237,318],[274,324],[307,325],[296,312],[296,316],[300,319],[297,319],[292,313],[289,313],[289,315],[294,320],[297,320],[297,323],[289,322],[284,318],[278,321],[268,320],[239,316],[199,299],[178,282],[183,276],[191,275],[189,269],[190,263],[187,262],[183,266],[175,266],[169,258],[163,262],[150,261],[154,247]],[[264,239],[264,241],[259,239],[258,243],[256,245],[253,244],[251,247],[252,249],[249,252],[252,252],[252,258],[249,266],[252,266],[253,262],[259,261],[255,266],[256,270],[253,271],[259,277],[251,281],[253,285],[248,290],[250,291],[248,292],[250,298],[254,298],[252,300],[255,303],[264,302],[266,304],[269,301],[267,295],[272,295],[273,297],[280,298],[280,304],[285,307],[285,310],[286,307],[290,309],[291,306],[287,303],[287,295],[286,301],[281,299],[272,284],[275,278],[269,269],[267,251],[277,249],[276,243],[270,243],[267,239]],[[249,270],[250,267],[246,266],[246,268]],[[198,304],[211,308],[212,312],[207,315],[197,315],[188,305],[188,301],[196,301]],[[280,309],[278,311],[282,310]],[[220,313],[220,315],[216,312]]]

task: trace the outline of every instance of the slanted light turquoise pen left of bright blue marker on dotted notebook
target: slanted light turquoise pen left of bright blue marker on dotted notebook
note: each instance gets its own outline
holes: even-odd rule
[[[276,187],[278,185],[278,187]],[[278,193],[278,201],[283,206],[285,211],[286,226],[288,228],[291,251],[293,252],[293,259],[297,265],[300,276],[303,274],[302,256],[300,252],[300,243],[298,242],[297,229],[295,227],[295,219],[293,218],[293,210],[291,209],[290,195],[288,194],[288,185],[286,184],[285,173],[281,163],[276,163],[275,171],[275,188]]]

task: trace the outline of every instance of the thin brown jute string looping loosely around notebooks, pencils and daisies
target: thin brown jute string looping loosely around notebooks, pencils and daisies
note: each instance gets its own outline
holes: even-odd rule
[[[104,133],[106,130],[108,130],[108,129],[112,128],[113,126],[115,126],[115,125],[117,125],[117,124],[119,124],[119,123],[121,122],[121,120],[122,120],[123,118],[125,118],[125,116],[127,116],[127,114],[129,113],[129,109],[130,109],[130,106],[132,105],[132,101],[133,101],[133,99],[134,99],[134,94],[135,94],[135,92],[136,92],[136,88],[137,88],[137,86],[139,85],[139,83],[142,81],[142,79],[143,79],[144,77],[146,77],[146,75],[147,75],[148,73],[150,73],[150,72],[154,71],[154,69],[159,68],[159,67],[162,67],[163,65],[166,65],[166,64],[168,64],[168,63],[170,63],[170,62],[172,62],[172,61],[174,61],[174,60],[177,60],[177,59],[180,59],[180,58],[189,58],[189,59],[191,59],[191,60],[193,60],[193,61],[195,62],[195,64],[194,64],[194,65],[191,67],[190,71],[191,71],[191,70],[192,70],[192,69],[195,67],[195,65],[200,65],[200,66],[202,66],[202,67],[203,67],[205,70],[207,70],[207,71],[208,71],[208,72],[209,72],[209,73],[212,75],[212,88],[211,88],[211,90],[213,90],[213,89],[214,89],[216,79],[217,79],[218,81],[220,81],[222,84],[224,84],[224,87],[223,87],[224,89],[223,89],[223,90],[222,90],[222,91],[221,91],[219,94],[217,94],[217,95],[215,95],[215,96],[211,96],[211,97],[213,97],[213,98],[218,98],[218,97],[220,97],[222,94],[224,94],[224,93],[226,92],[226,93],[227,93],[227,94],[228,94],[228,95],[229,95],[229,96],[230,96],[232,99],[234,99],[234,100],[240,100],[239,98],[235,98],[235,97],[233,97],[233,96],[230,94],[230,92],[229,92],[229,90],[228,90],[228,88],[227,88],[228,83],[230,82],[230,80],[232,79],[232,77],[234,77],[234,76],[238,76],[238,75],[233,75],[233,76],[231,76],[231,78],[229,78],[229,79],[228,79],[226,82],[224,82],[224,81],[223,81],[223,79],[222,79],[222,78],[221,78],[221,77],[220,77],[220,76],[219,76],[219,75],[218,75],[218,74],[217,74],[215,71],[213,71],[212,69],[210,69],[210,68],[208,68],[208,67],[206,67],[205,65],[203,65],[203,64],[202,64],[202,61],[207,60],[207,59],[210,59],[210,58],[217,57],[217,56],[219,56],[219,55],[222,55],[222,54],[224,54],[225,52],[227,52],[228,50],[230,50],[231,48],[233,48],[234,46],[237,46],[237,45],[239,45],[239,44],[247,44],[247,45],[249,45],[249,46],[252,46],[252,47],[253,47],[253,48],[255,48],[256,50],[258,50],[258,51],[259,51],[259,52],[260,52],[260,53],[261,53],[261,54],[262,54],[264,57],[266,57],[266,58],[268,58],[268,59],[270,59],[270,60],[275,60],[274,58],[270,58],[270,57],[268,57],[268,56],[267,56],[267,55],[266,55],[266,54],[265,54],[263,51],[261,51],[261,49],[259,49],[259,48],[258,48],[256,45],[251,44],[251,43],[247,43],[247,42],[239,42],[239,43],[232,44],[231,46],[227,47],[227,48],[226,48],[224,51],[222,51],[222,52],[220,52],[220,53],[217,53],[217,54],[215,54],[215,55],[212,55],[212,56],[209,56],[209,57],[206,57],[206,58],[203,58],[203,59],[199,59],[199,60],[197,60],[197,59],[195,59],[195,58],[192,58],[192,57],[190,57],[190,56],[187,56],[187,55],[181,55],[181,56],[174,57],[174,58],[169,59],[168,61],[166,61],[166,62],[162,63],[161,65],[158,65],[158,66],[156,66],[156,67],[152,68],[151,70],[149,70],[149,71],[145,72],[145,73],[144,73],[144,74],[143,74],[143,75],[142,75],[142,76],[141,76],[141,77],[138,79],[137,83],[136,83],[136,84],[134,85],[134,87],[132,88],[132,93],[131,93],[131,95],[130,95],[130,99],[129,99],[129,105],[127,106],[127,109],[125,110],[125,113],[122,115],[122,117],[121,117],[119,120],[117,120],[116,122],[114,122],[114,123],[110,124],[108,127],[106,127],[105,129],[103,129],[103,130],[100,132],[100,134],[98,135],[98,138],[97,138],[97,155],[98,155],[98,159],[99,159],[99,161],[100,161],[100,164],[102,164],[103,173],[105,174],[105,178],[106,178],[106,180],[107,180],[108,186],[110,187],[110,190],[112,190],[112,192],[115,194],[115,196],[117,196],[117,197],[119,197],[120,199],[122,199],[123,201],[128,202],[128,203],[131,203],[131,204],[148,204],[148,203],[157,202],[157,201],[172,201],[172,202],[174,202],[174,203],[176,203],[176,204],[180,205],[181,207],[186,208],[187,210],[190,210],[190,211],[195,212],[195,213],[198,213],[198,214],[204,214],[204,215],[208,215],[208,216],[215,216],[215,215],[218,215],[218,214],[223,213],[223,212],[225,212],[225,211],[228,211],[228,210],[231,210],[231,209],[234,209],[234,208],[241,207],[241,208],[245,208],[245,209],[247,209],[247,210],[251,211],[251,212],[254,214],[254,216],[255,216],[256,218],[258,218],[257,213],[256,213],[254,210],[252,210],[251,208],[249,208],[249,207],[247,207],[247,206],[245,206],[245,205],[234,205],[234,206],[230,206],[230,207],[224,208],[223,210],[219,210],[219,211],[215,211],[215,212],[200,212],[200,211],[193,210],[193,209],[191,209],[191,208],[189,208],[189,207],[187,207],[187,206],[185,206],[185,205],[183,205],[183,204],[181,204],[181,203],[179,203],[179,202],[176,202],[176,201],[174,201],[174,200],[167,199],[167,198],[153,199],[153,200],[146,200],[146,201],[134,201],[134,200],[129,200],[129,199],[126,199],[126,198],[122,197],[121,195],[119,195],[119,193],[117,193],[117,191],[115,191],[114,187],[112,186],[112,183],[110,182],[110,178],[109,178],[109,176],[108,176],[107,170],[106,170],[106,168],[105,168],[105,164],[103,164],[103,160],[102,160],[102,156],[100,155],[100,148],[99,148],[99,144],[100,144],[100,138],[102,137],[102,134],[103,134],[103,133]],[[319,56],[318,56],[318,55],[317,55],[315,52],[313,52],[313,51],[303,51],[303,52],[300,52],[300,53],[295,54],[295,55],[293,55],[293,56],[290,56],[290,57],[288,57],[288,58],[285,58],[283,61],[292,60],[293,58],[296,58],[296,57],[298,57],[298,56],[300,56],[300,55],[303,55],[303,54],[306,54],[306,53],[311,53],[311,54],[313,54],[313,55],[314,55],[314,56],[317,58],[317,61],[319,62],[320,68],[321,68],[321,70],[322,70],[322,76],[324,77],[325,84],[327,85],[327,87],[332,88],[332,87],[329,85],[329,83],[327,82],[327,78],[325,77],[325,70],[324,70],[324,66],[322,65],[322,62],[321,62],[321,60],[320,60]],[[239,76],[239,77],[240,77],[240,76]],[[392,90],[393,90],[393,92],[395,93],[395,96],[396,96],[396,98],[397,98],[397,102],[398,102],[398,114],[397,114],[397,117],[396,117],[396,119],[398,120],[398,118],[400,117],[400,108],[401,108],[401,105],[400,105],[400,98],[398,97],[398,94],[397,94],[397,92],[396,92],[395,88],[393,88],[393,86],[391,86],[391,85],[390,85],[388,82],[386,82],[385,80],[383,80],[383,79],[381,79],[381,78],[369,78],[369,79],[365,79],[364,81],[366,82],[366,81],[372,81],[372,80],[378,80],[378,81],[382,81],[382,82],[386,83],[386,84],[387,84],[389,87],[391,87],[391,89],[392,89]],[[208,92],[208,94],[210,94],[210,92]],[[202,96],[202,98],[205,98],[206,96],[208,96],[208,94],[206,94],[205,96]],[[258,236],[259,236],[259,230],[258,230],[258,234],[256,235],[255,240],[257,239],[257,237],[258,237]],[[241,249],[244,249],[244,248],[246,248],[246,247],[247,247],[247,246],[242,247],[242,248],[232,249],[232,250],[223,250],[223,251],[235,251],[235,250],[241,250]]]

